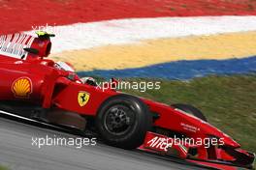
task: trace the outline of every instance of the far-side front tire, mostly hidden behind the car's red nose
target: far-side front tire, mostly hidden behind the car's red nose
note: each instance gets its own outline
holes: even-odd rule
[[[172,107],[175,107],[177,109],[180,109],[190,115],[193,115],[205,122],[208,122],[206,116],[196,107],[189,105],[189,104],[182,104],[182,103],[176,103],[176,104],[172,104]]]

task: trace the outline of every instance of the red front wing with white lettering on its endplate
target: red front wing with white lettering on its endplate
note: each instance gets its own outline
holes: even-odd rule
[[[139,150],[160,156],[178,157],[195,165],[208,168],[236,170],[241,168],[253,169],[255,155],[245,150],[229,147],[189,146],[176,144],[174,138],[147,131],[144,144]],[[197,150],[196,155],[193,152]],[[204,150],[206,152],[204,152]],[[215,156],[210,156],[214,152]],[[194,152],[195,153],[195,152]],[[202,156],[204,155],[204,156]],[[204,157],[204,158],[203,158]]]

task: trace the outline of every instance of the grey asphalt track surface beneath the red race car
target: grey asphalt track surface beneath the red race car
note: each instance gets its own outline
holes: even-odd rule
[[[126,151],[102,143],[83,146],[32,146],[32,137],[76,137],[73,134],[38,127],[0,117],[0,164],[13,170],[172,170],[202,169],[138,151]]]

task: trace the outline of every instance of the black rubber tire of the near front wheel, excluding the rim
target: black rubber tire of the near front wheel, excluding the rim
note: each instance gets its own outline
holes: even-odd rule
[[[105,128],[106,111],[113,105],[122,104],[134,112],[135,120],[132,127],[124,134],[113,135]],[[101,137],[110,145],[124,149],[137,148],[144,142],[144,136],[151,127],[151,115],[147,106],[141,99],[129,95],[117,95],[107,99],[100,107],[97,117],[96,126]]]

